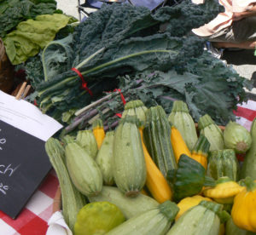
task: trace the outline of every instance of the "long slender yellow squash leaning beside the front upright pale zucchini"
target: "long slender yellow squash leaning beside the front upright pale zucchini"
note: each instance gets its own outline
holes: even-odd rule
[[[143,142],[143,130],[139,129]],[[146,162],[147,180],[146,186],[148,191],[152,194],[153,198],[159,202],[164,203],[167,200],[172,200],[172,190],[160,169],[156,166],[150,157],[148,150],[143,142],[143,153]]]

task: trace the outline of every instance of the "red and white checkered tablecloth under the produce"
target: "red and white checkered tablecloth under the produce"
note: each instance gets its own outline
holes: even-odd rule
[[[249,100],[242,104],[235,114],[238,118],[236,122],[249,130],[256,117],[256,101]],[[0,211],[0,235],[44,235],[58,186],[58,179],[52,170],[16,220]]]

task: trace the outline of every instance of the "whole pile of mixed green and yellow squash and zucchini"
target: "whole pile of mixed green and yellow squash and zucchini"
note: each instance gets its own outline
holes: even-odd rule
[[[132,100],[114,131],[97,119],[45,149],[75,235],[256,234],[256,118],[196,128],[181,100],[169,116]]]

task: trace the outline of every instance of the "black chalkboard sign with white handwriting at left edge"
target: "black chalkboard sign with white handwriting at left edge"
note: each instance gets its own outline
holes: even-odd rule
[[[44,144],[0,120],[0,210],[14,219],[51,169]]]

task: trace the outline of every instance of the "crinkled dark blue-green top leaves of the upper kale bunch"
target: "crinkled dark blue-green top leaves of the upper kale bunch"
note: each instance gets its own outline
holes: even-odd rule
[[[103,54],[96,55],[83,70],[102,64],[103,59],[109,61],[108,57],[117,51],[116,45],[128,38],[137,40],[158,34],[162,24],[168,25],[167,29],[172,37],[182,37],[192,28],[203,26],[212,20],[222,9],[216,0],[208,0],[200,5],[186,0],[175,7],[160,8],[155,14],[146,8],[135,8],[130,4],[103,5],[102,9],[81,23],[74,33],[74,41],[77,42],[74,43],[74,50],[77,55],[73,66],[102,48],[105,49]],[[193,50],[193,43],[190,50]]]

